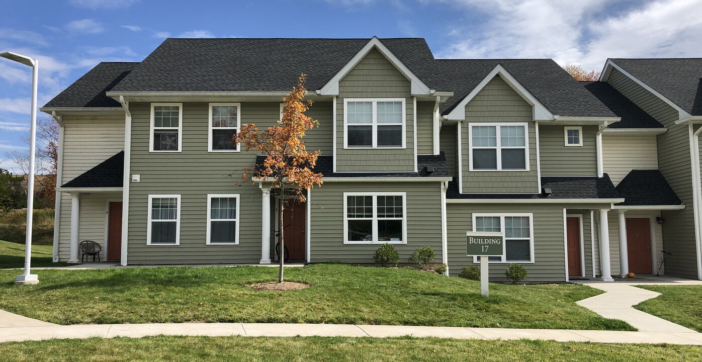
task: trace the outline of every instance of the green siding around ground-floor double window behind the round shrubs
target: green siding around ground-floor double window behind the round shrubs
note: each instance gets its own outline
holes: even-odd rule
[[[399,261],[430,246],[442,262],[440,182],[327,182],[312,190],[311,262],[372,263],[380,244],[344,244],[344,192],[406,192],[407,243],[395,244]]]

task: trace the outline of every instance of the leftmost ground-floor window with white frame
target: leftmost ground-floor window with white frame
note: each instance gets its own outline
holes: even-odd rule
[[[180,243],[180,195],[149,195],[147,245]]]

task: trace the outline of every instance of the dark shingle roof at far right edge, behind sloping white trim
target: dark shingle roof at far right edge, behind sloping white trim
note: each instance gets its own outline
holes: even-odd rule
[[[702,58],[610,59],[693,116],[702,116]]]

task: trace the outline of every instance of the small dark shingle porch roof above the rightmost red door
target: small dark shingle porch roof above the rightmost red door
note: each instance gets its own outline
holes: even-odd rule
[[[623,206],[682,205],[659,170],[631,170],[616,187]]]

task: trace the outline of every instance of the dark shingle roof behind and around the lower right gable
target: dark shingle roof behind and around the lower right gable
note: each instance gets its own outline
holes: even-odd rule
[[[453,97],[440,106],[442,114],[451,112],[499,64],[552,114],[615,116],[551,59],[438,59],[437,63],[444,76],[440,90],[453,91]]]

